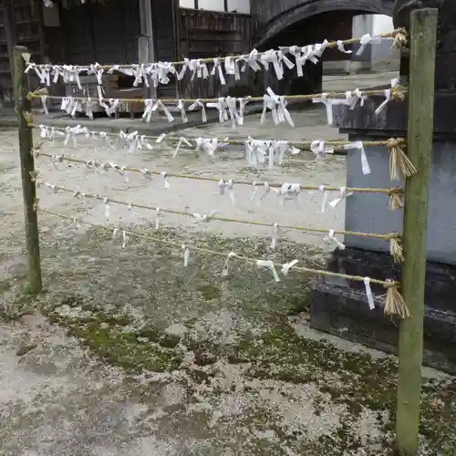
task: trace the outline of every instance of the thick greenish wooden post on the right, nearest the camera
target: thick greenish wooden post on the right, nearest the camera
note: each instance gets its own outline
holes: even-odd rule
[[[406,181],[401,290],[411,316],[400,324],[397,450],[418,453],[430,158],[434,122],[437,9],[411,13],[408,154],[418,173]]]

